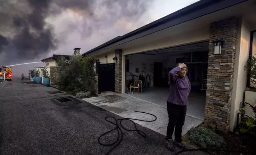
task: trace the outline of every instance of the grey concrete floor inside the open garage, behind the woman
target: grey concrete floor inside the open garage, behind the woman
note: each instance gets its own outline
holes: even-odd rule
[[[159,106],[163,106],[166,108],[166,100],[168,97],[169,88],[159,88],[159,87],[149,87],[148,89],[142,89],[142,93],[137,93],[137,89],[134,91],[134,94],[130,93],[132,97],[136,97],[147,102],[151,102],[157,104]],[[192,117],[197,117],[200,119],[204,119],[204,110],[206,104],[206,94],[190,92],[190,96],[188,97],[188,108],[187,115],[191,115]]]

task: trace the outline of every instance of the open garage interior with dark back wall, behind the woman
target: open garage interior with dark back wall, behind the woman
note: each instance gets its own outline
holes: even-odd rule
[[[188,97],[187,114],[204,119],[206,103],[206,83],[208,69],[209,42],[198,42],[177,47],[146,51],[126,56],[126,92],[130,96],[166,107],[169,93],[169,76],[176,64],[184,62],[188,67],[191,91]],[[128,89],[127,85],[134,74],[147,75],[149,87],[137,93],[137,89]],[[150,80],[151,79],[151,80]]]

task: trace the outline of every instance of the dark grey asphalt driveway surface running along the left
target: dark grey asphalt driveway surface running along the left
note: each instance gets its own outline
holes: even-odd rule
[[[57,105],[50,99],[69,95],[48,94],[57,90],[24,82],[27,81],[0,84],[0,155],[104,155],[111,149],[99,145],[97,138],[114,128],[105,121],[106,116],[120,116],[85,101],[71,106]],[[126,127],[134,129],[129,123]],[[173,154],[165,148],[162,134],[140,125],[138,129],[147,138],[124,131],[123,141],[110,155]],[[108,137],[115,140],[116,132]],[[205,153],[181,155],[185,154]]]

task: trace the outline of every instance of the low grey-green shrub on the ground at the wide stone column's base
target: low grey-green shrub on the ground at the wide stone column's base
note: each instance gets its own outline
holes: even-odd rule
[[[222,136],[204,127],[190,129],[188,135],[189,140],[198,147],[213,148],[227,145]]]

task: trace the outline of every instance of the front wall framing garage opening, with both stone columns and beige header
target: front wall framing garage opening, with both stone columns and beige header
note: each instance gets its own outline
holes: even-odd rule
[[[250,27],[246,21],[231,17],[211,23],[206,28],[139,46],[118,49],[114,52],[114,56],[111,56],[118,58],[115,74],[116,92],[124,93],[126,89],[126,55],[209,40],[205,123],[213,128],[217,125],[219,130],[232,131],[236,126],[237,112],[246,88],[244,64],[249,53],[249,38]],[[221,55],[213,54],[215,40],[223,40]],[[98,56],[101,62],[104,60],[106,62],[105,55],[113,55],[113,52]]]

